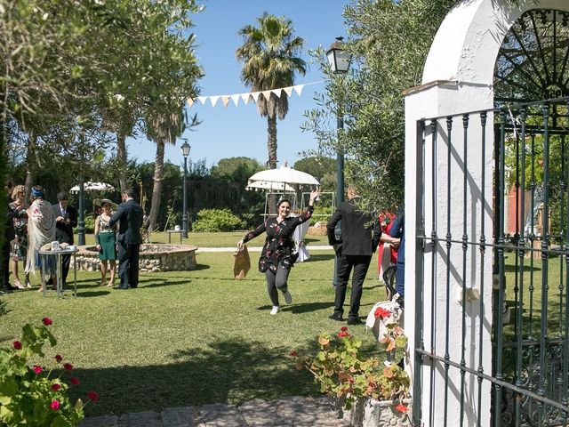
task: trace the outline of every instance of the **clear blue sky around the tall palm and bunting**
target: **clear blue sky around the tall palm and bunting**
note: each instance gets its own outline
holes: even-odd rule
[[[309,62],[309,49],[322,44],[327,48],[335,37],[346,36],[341,16],[348,0],[210,0],[204,1],[204,12],[195,15],[196,54],[204,68],[205,77],[199,81],[201,95],[223,95],[245,93],[249,89],[240,79],[241,64],[235,57],[236,48],[242,44],[237,35],[239,28],[247,24],[256,25],[256,18],[263,12],[286,16],[293,21],[297,36],[305,41],[303,59]],[[322,80],[316,64],[309,64],[304,77],[297,77],[295,85]],[[284,120],[277,120],[278,165],[298,160],[299,152],[317,148],[312,133],[302,133],[303,112],[316,107],[315,92],[322,92],[324,83],[304,87],[301,97],[293,93],[289,99],[289,112]],[[194,131],[186,132],[191,146],[189,157],[196,161],[205,159],[212,166],[221,158],[252,157],[264,164],[267,161],[267,119],[260,117],[254,103],[236,107],[229,101],[224,108],[217,101],[212,108],[210,101],[205,105],[196,103],[188,110],[189,115],[197,113],[202,120]],[[181,163],[180,144],[167,146],[165,159],[174,164]],[[140,162],[154,161],[155,145],[145,139],[129,140],[129,157]]]

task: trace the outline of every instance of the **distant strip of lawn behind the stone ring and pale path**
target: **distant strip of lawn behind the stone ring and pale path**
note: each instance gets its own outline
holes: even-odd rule
[[[188,238],[182,239],[184,245],[193,245],[198,247],[229,247],[236,246],[237,241],[243,238],[247,231],[228,231],[220,233],[194,233],[189,232]],[[152,234],[153,243],[168,243],[168,233],[158,232]],[[180,235],[172,234],[172,243],[180,243]],[[77,241],[77,236],[76,240]],[[307,245],[328,245],[328,239],[325,236],[307,236],[305,239]],[[95,238],[92,234],[85,235],[85,243],[94,245]],[[262,246],[263,238],[256,238],[250,246]]]

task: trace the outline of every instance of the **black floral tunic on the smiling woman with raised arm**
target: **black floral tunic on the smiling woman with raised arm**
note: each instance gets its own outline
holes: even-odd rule
[[[314,211],[313,206],[309,206],[307,211],[299,216],[287,217],[281,222],[277,222],[276,218],[269,218],[267,221],[260,224],[255,230],[247,233],[243,242],[246,243],[252,238],[256,238],[263,231],[267,233],[265,244],[263,245],[262,252],[259,259],[259,271],[265,272],[271,270],[276,272],[278,264],[285,269],[293,267],[298,254],[294,254],[294,229],[302,222],[309,221]]]

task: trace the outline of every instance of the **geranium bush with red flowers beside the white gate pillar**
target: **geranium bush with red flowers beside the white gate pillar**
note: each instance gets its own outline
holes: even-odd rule
[[[383,310],[383,309],[381,309]],[[389,318],[389,310],[374,313],[379,321]],[[395,323],[386,325],[387,332],[380,345],[389,352],[389,359],[403,356],[407,337]],[[341,399],[350,409],[358,398],[392,400],[395,409],[405,413],[403,400],[409,397],[410,378],[397,363],[382,363],[377,357],[365,357],[361,340],[349,334],[343,326],[337,334],[322,334],[317,339],[318,352],[314,358],[299,356],[295,350],[296,369],[307,368],[314,375],[320,390]]]

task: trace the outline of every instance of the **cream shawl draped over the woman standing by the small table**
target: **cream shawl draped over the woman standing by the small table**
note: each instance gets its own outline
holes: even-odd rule
[[[55,214],[52,205],[41,198],[36,198],[28,210],[28,258],[26,259],[26,272],[35,271],[40,267],[39,250],[46,243],[55,240]],[[45,258],[53,258],[44,257]],[[44,266],[44,273],[51,275],[54,260],[48,261]]]

